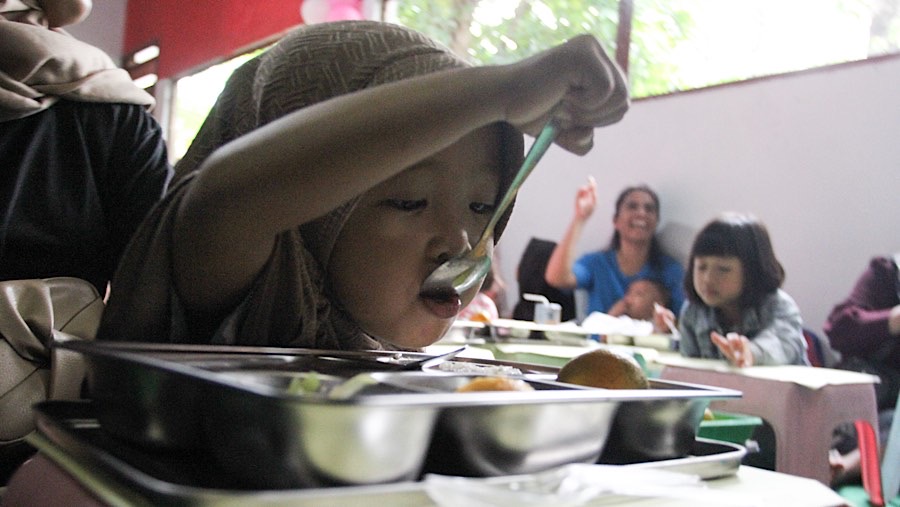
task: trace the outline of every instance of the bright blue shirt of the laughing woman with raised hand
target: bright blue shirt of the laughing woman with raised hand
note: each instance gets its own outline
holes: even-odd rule
[[[672,298],[669,308],[678,314],[684,303],[684,268],[674,258],[663,255],[662,269],[649,263],[632,276],[619,268],[615,250],[603,250],[581,256],[572,266],[579,289],[587,289],[587,313],[607,313],[622,299],[628,285],[635,280],[653,278],[662,281]]]

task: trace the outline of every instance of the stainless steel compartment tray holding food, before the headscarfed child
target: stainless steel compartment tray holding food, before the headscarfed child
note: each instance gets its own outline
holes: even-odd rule
[[[87,359],[105,432],[154,451],[204,453],[244,489],[523,474],[601,455],[683,457],[709,401],[740,395],[659,380],[647,390],[590,389],[528,368],[521,378],[534,391],[457,393],[474,375],[394,371],[408,359],[390,353],[62,346]],[[288,392],[310,371],[377,382],[347,399]],[[615,459],[608,441],[620,449]]]

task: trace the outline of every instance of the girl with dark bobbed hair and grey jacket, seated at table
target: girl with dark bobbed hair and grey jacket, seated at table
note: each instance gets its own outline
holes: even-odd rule
[[[681,353],[739,367],[808,364],[800,310],[779,288],[783,281],[769,233],[756,217],[726,213],[708,223],[694,240],[685,275]],[[665,311],[657,312],[657,327],[672,317]]]

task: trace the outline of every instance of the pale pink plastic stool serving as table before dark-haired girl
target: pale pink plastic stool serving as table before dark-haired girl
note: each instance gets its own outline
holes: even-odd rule
[[[738,369],[724,366],[721,361],[674,361],[664,365],[660,378],[743,393],[739,399],[716,401],[710,406],[755,415],[768,422],[775,433],[778,472],[830,484],[828,452],[834,428],[859,419],[878,427],[873,387],[877,379],[871,375],[809,366]],[[811,387],[811,381],[816,385]]]

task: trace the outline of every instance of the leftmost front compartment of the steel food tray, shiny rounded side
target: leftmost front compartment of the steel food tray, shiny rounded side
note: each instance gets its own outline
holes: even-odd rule
[[[439,408],[284,403],[236,391],[215,396],[206,451],[243,488],[287,489],[414,480]]]

